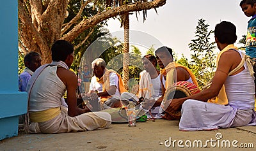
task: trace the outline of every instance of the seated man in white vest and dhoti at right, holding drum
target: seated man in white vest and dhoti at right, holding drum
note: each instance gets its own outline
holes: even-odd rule
[[[172,99],[167,108],[175,111],[182,105],[180,131],[256,125],[253,68],[249,57],[234,47],[236,26],[223,21],[216,25],[214,34],[221,52],[211,86],[198,94]],[[216,103],[223,100],[221,104],[207,103],[216,96]]]

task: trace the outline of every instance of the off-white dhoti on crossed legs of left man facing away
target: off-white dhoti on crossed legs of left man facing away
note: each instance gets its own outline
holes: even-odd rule
[[[76,131],[92,131],[104,129],[111,125],[109,113],[95,111],[70,117],[67,108],[61,106],[61,113],[46,122],[32,122],[29,125],[30,133],[67,133]]]

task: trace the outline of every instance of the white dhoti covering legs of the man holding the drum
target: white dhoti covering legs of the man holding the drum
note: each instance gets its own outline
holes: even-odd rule
[[[180,131],[200,131],[256,125],[255,111],[188,99],[182,104]]]

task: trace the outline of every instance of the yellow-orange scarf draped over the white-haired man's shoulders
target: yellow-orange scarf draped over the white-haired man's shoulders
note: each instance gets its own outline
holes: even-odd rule
[[[97,82],[101,83],[102,84],[102,91],[108,91],[109,90],[109,87],[110,87],[110,82],[109,82],[109,74],[110,73],[116,73],[116,71],[112,70],[112,69],[107,69],[105,68],[105,73],[104,75],[101,77],[101,78],[97,78],[96,77],[96,80]],[[122,92],[125,92],[125,88],[124,88],[124,83],[122,81],[122,77],[116,73],[116,75],[118,76],[118,85],[119,85],[119,92],[122,93]],[[112,97],[112,96],[107,96],[107,97],[100,97],[100,101],[102,102],[105,102],[107,101],[107,99],[109,97]]]

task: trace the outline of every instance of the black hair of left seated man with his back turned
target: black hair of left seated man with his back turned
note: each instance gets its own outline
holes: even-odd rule
[[[65,61],[68,55],[74,52],[73,45],[66,40],[57,40],[53,43],[52,61]]]

